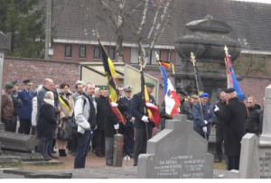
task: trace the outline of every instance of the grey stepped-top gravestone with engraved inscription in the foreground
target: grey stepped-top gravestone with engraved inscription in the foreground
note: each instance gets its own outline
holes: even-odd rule
[[[138,178],[212,178],[213,155],[208,142],[193,130],[186,115],[174,115],[140,154]]]

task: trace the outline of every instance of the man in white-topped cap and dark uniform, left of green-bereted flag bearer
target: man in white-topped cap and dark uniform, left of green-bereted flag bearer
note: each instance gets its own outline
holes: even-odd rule
[[[134,123],[135,117],[131,113],[131,104],[132,104],[132,86],[126,86],[123,88],[125,96],[119,98],[119,100],[127,105],[127,110],[122,114],[126,118],[125,125],[125,134],[124,134],[124,146],[123,146],[123,156],[128,155],[131,158],[134,158]]]

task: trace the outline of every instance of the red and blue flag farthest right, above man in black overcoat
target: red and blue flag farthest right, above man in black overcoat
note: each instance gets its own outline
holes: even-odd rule
[[[227,87],[228,88],[233,87],[238,94],[243,94],[243,92],[238,84],[238,80],[237,80],[237,78],[234,74],[234,71],[232,69],[230,55],[226,55],[225,62],[226,62],[226,68],[227,68],[227,82],[228,82]]]

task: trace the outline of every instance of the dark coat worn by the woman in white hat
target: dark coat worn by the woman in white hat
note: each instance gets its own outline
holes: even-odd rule
[[[55,137],[55,128],[58,118],[54,106],[42,103],[39,107],[37,133],[39,138],[53,140]]]

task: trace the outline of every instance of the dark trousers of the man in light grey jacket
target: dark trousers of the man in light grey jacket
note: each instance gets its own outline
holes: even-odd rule
[[[78,147],[74,159],[74,169],[84,169],[86,157],[89,152],[89,142],[91,140],[90,131],[85,131],[84,134],[78,133]]]

